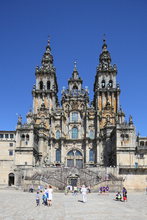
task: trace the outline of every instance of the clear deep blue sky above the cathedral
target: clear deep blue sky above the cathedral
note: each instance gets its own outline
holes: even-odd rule
[[[131,114],[136,131],[147,136],[146,0],[1,0],[0,29],[0,130],[15,129],[17,113],[25,122],[48,35],[59,97],[77,60],[92,100],[105,33],[126,119]]]

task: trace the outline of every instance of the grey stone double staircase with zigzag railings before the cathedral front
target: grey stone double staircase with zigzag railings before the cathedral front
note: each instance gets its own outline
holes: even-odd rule
[[[77,169],[77,168],[47,168],[42,170],[37,169],[33,171],[32,175],[25,176],[25,184],[27,182],[43,185],[52,185],[53,187],[63,190],[65,186],[68,185],[68,178],[76,176],[79,179],[78,184],[86,186],[91,186],[91,188],[95,188],[100,184],[105,184],[106,181],[111,181],[112,183],[120,182],[120,178],[116,177],[112,173],[108,174],[108,178],[106,179],[106,173],[102,170],[95,169]],[[120,185],[120,184],[119,184]]]

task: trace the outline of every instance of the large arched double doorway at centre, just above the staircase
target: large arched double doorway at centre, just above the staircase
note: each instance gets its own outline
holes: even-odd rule
[[[83,156],[79,150],[70,150],[67,153],[67,167],[83,168]]]

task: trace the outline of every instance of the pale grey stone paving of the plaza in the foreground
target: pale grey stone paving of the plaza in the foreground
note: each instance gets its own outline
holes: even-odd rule
[[[36,207],[36,193],[0,190],[0,220],[146,220],[147,195],[128,193],[128,202],[114,201],[109,195],[88,194],[87,203],[81,195],[53,194],[53,206]]]

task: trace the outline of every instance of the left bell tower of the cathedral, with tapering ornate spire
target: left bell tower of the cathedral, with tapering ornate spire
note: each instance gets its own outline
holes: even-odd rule
[[[50,112],[58,105],[56,69],[53,66],[49,40],[41,64],[41,67],[36,67],[36,84],[32,91],[34,114],[37,114],[42,106]]]

